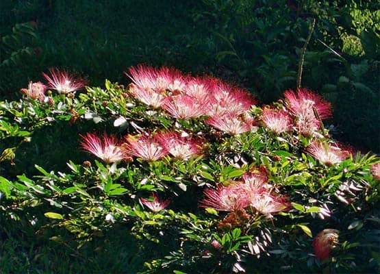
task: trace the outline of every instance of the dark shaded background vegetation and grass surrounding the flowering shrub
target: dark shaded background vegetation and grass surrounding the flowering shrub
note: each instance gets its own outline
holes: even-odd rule
[[[91,86],[103,86],[104,79],[128,84],[123,71],[145,63],[215,75],[270,103],[296,86],[301,48],[316,18],[302,86],[333,103],[329,124],[335,138],[379,153],[379,5],[339,0],[1,1],[0,99],[21,98],[18,90],[41,80],[41,72],[50,67],[75,71]],[[87,131],[84,123],[56,123],[27,140],[1,140],[0,151],[16,149],[13,164],[0,162],[0,175],[35,175],[33,164],[65,171],[68,157],[84,160],[83,153],[68,148]],[[63,273],[68,262],[72,272],[135,273],[149,260],[136,256],[144,250],[127,229],[111,231],[114,242],[97,238],[77,251],[69,243],[58,249],[46,235],[36,238],[26,227],[1,223],[4,273]],[[121,258],[111,256],[116,253]]]

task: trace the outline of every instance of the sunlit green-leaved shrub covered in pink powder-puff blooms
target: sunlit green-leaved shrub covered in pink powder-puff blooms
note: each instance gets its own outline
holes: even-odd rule
[[[66,229],[79,247],[130,227],[156,247],[146,273],[379,270],[380,158],[329,138],[331,108],[316,92],[287,90],[260,107],[245,90],[175,69],[140,65],[127,88],[83,92],[83,80],[50,73],[47,86],[1,102],[0,136],[82,121],[92,132],[67,149],[88,159],[67,159],[68,173],[0,177],[3,218]],[[13,159],[5,149],[1,160]]]

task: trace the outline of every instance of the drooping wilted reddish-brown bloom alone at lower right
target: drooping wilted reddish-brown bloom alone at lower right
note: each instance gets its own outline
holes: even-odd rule
[[[338,230],[336,229],[323,229],[314,238],[314,253],[319,260],[327,260],[330,257],[331,249],[335,248],[338,244]]]

